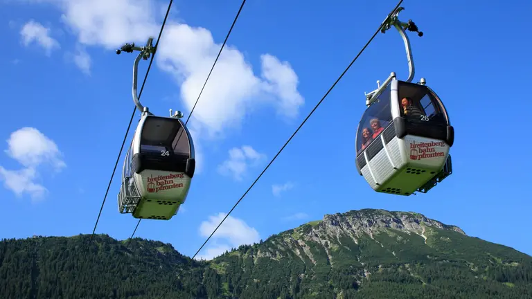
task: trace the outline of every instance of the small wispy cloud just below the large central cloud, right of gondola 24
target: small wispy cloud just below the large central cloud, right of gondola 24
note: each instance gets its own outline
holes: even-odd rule
[[[233,176],[236,181],[242,181],[249,166],[256,166],[266,158],[265,154],[258,153],[253,147],[243,145],[229,149],[229,158],[218,165],[218,172],[222,175]]]

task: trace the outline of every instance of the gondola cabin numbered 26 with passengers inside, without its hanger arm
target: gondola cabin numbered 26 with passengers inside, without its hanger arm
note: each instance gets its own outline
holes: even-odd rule
[[[356,164],[377,192],[427,192],[452,173],[454,129],[440,98],[425,86],[391,80],[371,97],[357,129]]]

